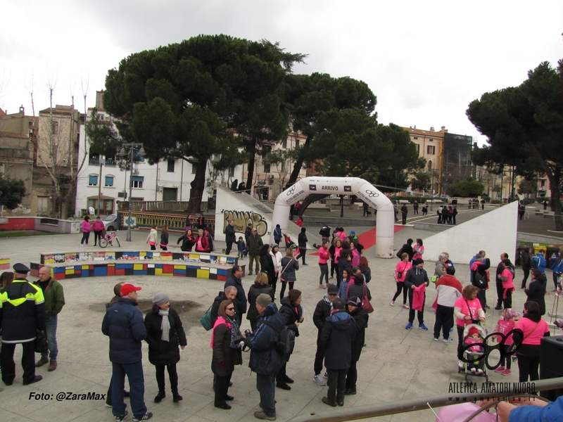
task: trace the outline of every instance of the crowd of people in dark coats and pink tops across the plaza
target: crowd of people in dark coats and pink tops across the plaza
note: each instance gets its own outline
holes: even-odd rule
[[[86,220],[85,220],[86,221]],[[203,223],[203,222],[202,222]],[[229,222],[232,228],[232,222]],[[160,246],[167,244],[167,231],[163,227]],[[153,227],[156,233],[156,227]],[[227,249],[232,244],[242,241],[234,239],[229,229]],[[193,234],[186,229],[186,234],[178,240],[182,242],[182,250],[189,248],[209,248],[205,245],[208,231],[200,229],[201,234]],[[229,395],[232,387],[232,374],[236,365],[243,363],[242,350],[251,350],[249,366],[256,373],[256,388],[260,395],[262,410],[255,412],[256,418],[274,420],[276,418],[276,388],[291,390],[293,379],[287,373],[287,362],[291,359],[287,341],[291,336],[299,336],[299,326],[303,323],[303,307],[301,290],[295,288],[297,274],[301,265],[305,264],[306,236],[305,228],[301,234],[305,240],[298,241],[299,253],[287,248],[280,252],[278,243],[264,244],[255,228],[248,226],[246,241],[242,241],[244,252],[248,253],[248,275],[254,275],[253,284],[248,290],[243,288],[243,269],[234,265],[232,274],[224,283],[224,288],[213,300],[210,309],[213,328],[210,331],[211,370],[215,376],[213,388],[215,390],[215,407],[231,409],[228,402],[234,397]],[[322,244],[315,245],[319,250],[319,288],[326,289],[323,298],[317,302],[312,321],[317,328],[317,347],[313,363],[313,381],[318,385],[328,385],[327,395],[322,402],[330,407],[343,406],[346,395],[356,394],[358,379],[358,361],[365,346],[365,329],[369,320],[369,301],[372,293],[368,283],[372,278],[372,271],[366,257],[362,256],[363,247],[359,243],[355,231],[346,231],[342,227],[334,229],[330,234],[330,227],[323,226],[320,234]],[[149,234],[147,243],[156,239]],[[198,241],[199,239],[199,241]],[[97,238],[96,238],[97,240]],[[87,239],[86,239],[87,242]],[[413,245],[414,243],[414,245]],[[156,245],[156,243],[155,243]],[[205,246],[204,246],[205,245]],[[303,250],[302,250],[303,245]],[[151,248],[154,245],[151,243]],[[240,244],[239,253],[241,251]],[[230,252],[230,250],[229,250]],[[500,262],[495,270],[489,271],[491,260],[486,252],[481,250],[474,255],[469,268],[471,283],[462,287],[462,283],[455,277],[455,267],[447,252],[438,255],[432,276],[424,269],[424,242],[417,238],[416,242],[408,239],[397,252],[399,262],[393,274],[396,282],[396,293],[390,305],[396,305],[396,300],[403,297],[402,306],[408,309],[408,320],[405,328],[410,330],[417,316],[418,328],[427,331],[424,324],[424,307],[426,289],[434,282],[436,287],[436,319],[434,323],[434,341],[453,343],[452,333],[457,333],[456,356],[458,366],[462,367],[463,350],[479,352],[482,335],[479,329],[469,328],[470,324],[479,325],[490,316],[488,309],[493,307],[487,302],[489,284],[494,277],[496,291],[495,309],[502,310],[500,322],[495,332],[508,333],[512,328],[519,328],[519,333],[513,333],[505,341],[506,351],[511,344],[521,343],[516,353],[519,371],[519,381],[536,381],[539,378],[538,366],[540,356],[540,340],[549,335],[548,324],[542,319],[545,314],[545,290],[547,279],[545,276],[544,250],[539,250],[533,257],[524,248],[519,260],[524,271],[521,288],[524,289],[527,300],[524,312],[520,314],[512,307],[512,293],[514,292],[514,264],[507,253],[500,255]],[[527,257],[526,257],[527,255]],[[329,271],[330,267],[330,271]],[[563,272],[563,252],[552,266],[555,288]],[[64,302],[63,288],[60,283],[51,279],[49,270],[43,267],[39,271],[39,281],[35,284],[27,283],[25,276],[29,269],[23,264],[14,266],[14,273],[4,273],[0,276],[3,288],[0,298],[0,326],[2,328],[2,350],[0,354],[2,380],[11,385],[15,377],[13,363],[14,346],[23,344],[23,382],[25,385],[41,381],[42,376],[34,373],[35,367],[49,363],[48,371],[57,367],[56,316],[61,312]],[[336,273],[336,274],[335,274]],[[531,274],[531,281],[528,278]],[[336,278],[336,283],[331,283]],[[279,307],[276,303],[277,285],[279,290]],[[25,284],[22,284],[25,283]],[[289,283],[289,286],[287,284]],[[25,288],[22,290],[20,286]],[[527,285],[527,286],[526,286]],[[18,293],[15,291],[18,286]],[[115,297],[108,303],[108,312],[104,316],[102,332],[110,338],[110,362],[112,363],[112,378],[108,390],[108,404],[113,409],[116,420],[122,421],[127,416],[124,397],[130,397],[131,411],[134,421],[151,418],[144,402],[144,374],[142,369],[141,344],[148,343],[148,361],[156,369],[156,385],[158,394],[153,401],[158,403],[165,399],[165,372],[168,373],[170,393],[173,402],[182,400],[178,391],[178,373],[176,364],[179,362],[180,349],[186,347],[186,335],[182,320],[178,313],[170,307],[170,298],[166,293],[157,293],[152,298],[153,309],[143,318],[135,307],[137,292],[140,287],[129,283],[119,283],[114,288]],[[19,295],[19,296],[18,296]],[[26,298],[25,307],[17,305],[18,298]],[[408,299],[408,301],[407,301]],[[494,300],[491,299],[490,300]],[[6,305],[8,304],[8,305]],[[369,305],[369,306],[367,306]],[[22,312],[34,316],[34,326],[30,326],[29,333],[18,333],[11,330],[11,319],[20,318]],[[250,325],[249,330],[243,331],[243,316]],[[502,321],[502,322],[501,322]],[[54,327],[54,328],[53,328]],[[41,359],[35,363],[32,343],[34,333],[43,331],[46,335],[49,350],[42,352]],[[519,338],[521,337],[521,338]],[[512,342],[512,343],[511,343]],[[30,345],[31,343],[31,345]],[[293,344],[293,343],[292,343]],[[298,347],[298,344],[297,346]],[[31,350],[31,351],[30,351]],[[32,364],[33,363],[33,364]],[[468,365],[468,370],[474,375],[483,374],[483,362]],[[511,359],[503,358],[496,372],[510,375]],[[125,376],[129,378],[131,391],[125,391]],[[234,389],[231,388],[231,392]]]

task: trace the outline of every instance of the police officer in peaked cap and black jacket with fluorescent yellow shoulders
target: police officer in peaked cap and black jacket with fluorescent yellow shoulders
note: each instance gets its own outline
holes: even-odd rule
[[[34,340],[37,331],[45,329],[45,305],[41,288],[27,281],[30,269],[18,262],[13,266],[14,281],[0,290],[0,329],[2,350],[0,364],[2,381],[12,385],[15,378],[13,353],[15,345],[23,346],[23,385],[37,383],[35,375]]]

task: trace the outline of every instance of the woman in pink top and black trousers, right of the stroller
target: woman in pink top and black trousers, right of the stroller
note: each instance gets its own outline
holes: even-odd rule
[[[538,368],[540,367],[540,343],[542,337],[550,335],[548,323],[540,316],[540,307],[537,302],[524,303],[524,316],[517,322],[516,330],[512,334],[514,343],[521,343],[516,356],[518,357],[519,382],[536,381],[540,378]]]

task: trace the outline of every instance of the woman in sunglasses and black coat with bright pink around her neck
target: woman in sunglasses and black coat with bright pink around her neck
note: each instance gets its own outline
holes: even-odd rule
[[[234,365],[242,364],[241,340],[243,335],[234,319],[234,303],[223,300],[219,305],[219,316],[211,333],[211,348],[213,359],[211,370],[217,376],[215,383],[215,407],[231,409],[227,401],[234,399],[229,396],[229,382],[234,371]]]

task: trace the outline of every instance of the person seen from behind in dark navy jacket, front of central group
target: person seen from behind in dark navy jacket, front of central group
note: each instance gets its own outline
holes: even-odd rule
[[[329,373],[329,392],[322,402],[331,407],[344,405],[346,373],[352,360],[352,340],[356,326],[352,317],[346,313],[344,301],[336,298],[332,302],[334,311],[327,317],[322,327],[320,345],[324,349],[324,364]]]

